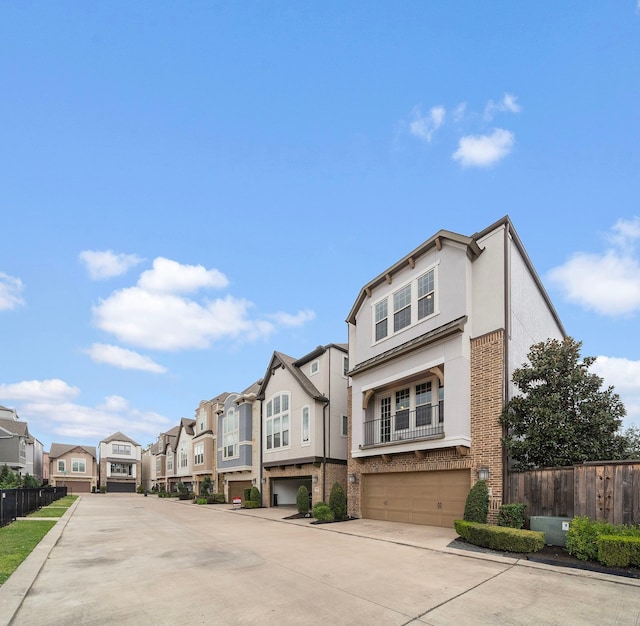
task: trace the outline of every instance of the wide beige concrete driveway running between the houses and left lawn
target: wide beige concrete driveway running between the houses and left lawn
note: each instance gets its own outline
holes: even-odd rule
[[[452,550],[448,529],[285,514],[84,495],[0,588],[0,623],[640,622],[638,581]]]

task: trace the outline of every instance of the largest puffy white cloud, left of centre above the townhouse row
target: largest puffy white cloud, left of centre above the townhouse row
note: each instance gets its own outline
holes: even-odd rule
[[[254,305],[231,294],[208,299],[196,292],[228,285],[218,270],[158,258],[133,287],[114,291],[93,307],[93,322],[120,342],[154,350],[205,349],[220,339],[255,340],[279,326],[313,319],[313,312],[251,315]]]

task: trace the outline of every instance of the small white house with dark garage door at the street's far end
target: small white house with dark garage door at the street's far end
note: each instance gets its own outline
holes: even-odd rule
[[[121,432],[99,444],[100,486],[108,493],[135,493],[141,483],[142,449]]]

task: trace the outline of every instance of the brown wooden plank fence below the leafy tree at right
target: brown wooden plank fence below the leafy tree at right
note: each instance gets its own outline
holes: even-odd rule
[[[586,515],[612,524],[640,524],[640,461],[594,462],[509,475],[509,502],[527,515]]]

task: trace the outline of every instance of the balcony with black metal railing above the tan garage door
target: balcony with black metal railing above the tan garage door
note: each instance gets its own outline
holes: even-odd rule
[[[403,410],[364,423],[364,447],[444,435],[444,402]]]

